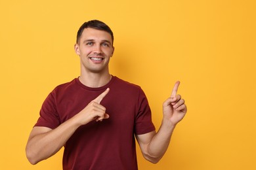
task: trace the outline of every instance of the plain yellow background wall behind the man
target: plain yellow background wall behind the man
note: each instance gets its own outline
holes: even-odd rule
[[[1,0],[0,169],[62,168],[63,150],[30,165],[25,146],[48,93],[79,76],[75,36],[92,19],[114,31],[110,71],[143,88],[157,128],[181,80],[188,113],[158,164],[138,149],[140,169],[256,169],[255,9],[254,0]]]

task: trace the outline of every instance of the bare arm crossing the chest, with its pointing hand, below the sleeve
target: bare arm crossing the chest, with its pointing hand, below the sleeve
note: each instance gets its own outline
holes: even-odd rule
[[[26,146],[26,156],[30,163],[36,164],[53,156],[64,146],[79,126],[93,120],[102,121],[105,118],[109,118],[109,115],[105,113],[106,108],[100,105],[100,101],[108,92],[109,88],[91,101],[85,109],[55,129],[33,127]]]

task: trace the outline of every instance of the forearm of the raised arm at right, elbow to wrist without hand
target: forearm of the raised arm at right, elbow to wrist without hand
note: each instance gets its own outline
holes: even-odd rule
[[[158,133],[154,135],[152,141],[148,144],[148,159],[151,159],[150,161],[158,162],[163,157],[171,141],[174,129],[174,124],[171,124],[168,120],[162,121]]]

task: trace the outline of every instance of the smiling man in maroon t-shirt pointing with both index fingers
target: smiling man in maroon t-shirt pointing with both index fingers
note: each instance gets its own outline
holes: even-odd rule
[[[63,169],[138,169],[135,137],[146,160],[157,163],[162,158],[187,110],[177,95],[179,82],[163,103],[156,133],[141,88],[109,73],[113,42],[113,33],[103,22],[81,25],[75,44],[81,75],[57,86],[45,99],[26,146],[30,163],[45,160],[64,146]]]

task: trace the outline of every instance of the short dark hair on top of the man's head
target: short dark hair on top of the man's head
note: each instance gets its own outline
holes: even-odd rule
[[[101,22],[99,20],[91,20],[91,21],[83,23],[83,25],[81,25],[81,27],[77,31],[76,43],[79,42],[79,39],[83,33],[83,29],[85,29],[87,27],[91,27],[93,29],[98,29],[98,30],[102,30],[102,31],[106,31],[106,32],[110,33],[110,35],[112,37],[112,45],[113,45],[114,34],[113,34],[112,30],[110,29],[110,27],[108,27],[108,25],[106,25],[104,22]]]

